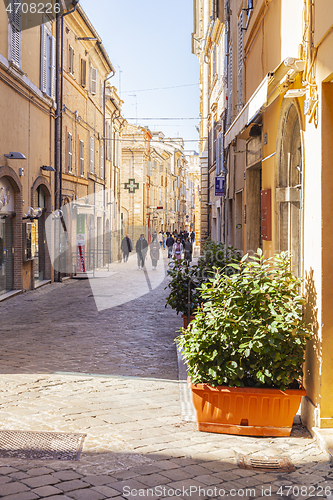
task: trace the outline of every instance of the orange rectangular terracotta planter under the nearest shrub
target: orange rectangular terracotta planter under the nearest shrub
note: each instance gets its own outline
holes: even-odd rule
[[[242,436],[290,436],[304,389],[192,384],[198,430]]]

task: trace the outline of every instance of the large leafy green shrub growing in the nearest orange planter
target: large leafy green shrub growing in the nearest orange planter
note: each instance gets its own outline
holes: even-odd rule
[[[193,383],[212,386],[298,387],[310,332],[302,319],[302,280],[283,252],[261,250],[216,272],[201,286],[203,305],[176,339]]]

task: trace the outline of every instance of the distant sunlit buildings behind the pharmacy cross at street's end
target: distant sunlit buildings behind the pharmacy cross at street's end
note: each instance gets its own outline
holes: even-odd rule
[[[122,130],[122,234],[137,240],[141,233],[186,227],[187,160],[182,139],[127,123]]]

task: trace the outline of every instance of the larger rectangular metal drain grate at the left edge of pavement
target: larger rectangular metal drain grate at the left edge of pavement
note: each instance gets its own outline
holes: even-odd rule
[[[0,457],[27,460],[78,460],[86,434],[0,431]]]

